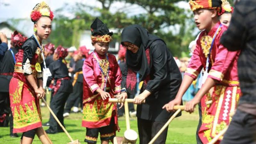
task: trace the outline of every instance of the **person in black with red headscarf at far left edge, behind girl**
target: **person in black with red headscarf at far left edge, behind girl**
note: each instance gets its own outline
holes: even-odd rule
[[[18,135],[17,133],[13,133],[13,116],[10,108],[9,84],[16,63],[15,54],[18,53],[26,40],[26,36],[22,36],[19,32],[14,31],[11,37],[11,48],[5,52],[4,58],[0,64],[0,126],[7,127],[10,121],[11,137],[18,137]]]

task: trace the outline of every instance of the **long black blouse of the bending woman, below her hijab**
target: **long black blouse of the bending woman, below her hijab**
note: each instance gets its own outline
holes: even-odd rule
[[[156,40],[150,45],[152,68],[146,90],[151,95],[145,104],[137,106],[137,117],[146,120],[166,122],[173,113],[167,112],[162,107],[173,100],[180,88],[182,77],[180,70],[169,52],[167,46],[161,40]],[[126,85],[127,65],[123,72],[122,88]],[[145,86],[142,86],[145,87]],[[144,90],[141,89],[140,93]]]

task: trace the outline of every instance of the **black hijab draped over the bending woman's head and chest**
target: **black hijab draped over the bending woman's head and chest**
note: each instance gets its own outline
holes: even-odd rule
[[[139,47],[137,53],[132,53],[132,51],[126,51],[126,65],[128,68],[132,69],[140,75],[140,81],[145,80],[146,76],[150,73],[150,68],[152,62],[148,64],[146,57],[146,50],[149,46],[156,40],[161,40],[159,37],[148,34],[148,30],[140,25],[131,25],[125,27],[122,31],[122,41],[132,43]],[[150,61],[152,61],[150,55]]]

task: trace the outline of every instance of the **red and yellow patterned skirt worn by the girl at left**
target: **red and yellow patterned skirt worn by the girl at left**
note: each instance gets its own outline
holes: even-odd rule
[[[13,114],[13,132],[26,132],[42,126],[39,100],[26,83],[13,77],[10,81],[10,107]]]

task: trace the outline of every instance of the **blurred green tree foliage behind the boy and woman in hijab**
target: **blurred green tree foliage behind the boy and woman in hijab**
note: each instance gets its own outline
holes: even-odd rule
[[[194,39],[192,31],[194,30],[194,22],[190,20],[191,12],[187,12],[177,6],[177,2],[181,0],[98,0],[102,4],[102,8],[90,7],[83,3],[77,3],[70,8],[70,13],[75,13],[74,18],[70,19],[59,13],[68,5],[63,6],[56,13],[54,27],[51,34],[51,42],[64,47],[79,46],[79,40],[84,30],[90,30],[92,21],[99,17],[108,28],[117,30],[113,38],[121,41],[121,30],[131,24],[139,24],[147,28],[149,33],[161,37],[167,44],[168,48],[174,56],[181,56],[181,52],[188,54],[188,44]],[[130,15],[125,10],[117,10],[111,13],[109,8],[116,1],[127,4],[137,4],[140,9],[144,9],[146,13]],[[129,7],[124,7],[129,9]],[[93,15],[92,15],[93,13]],[[190,20],[191,22],[187,22]],[[167,31],[171,26],[179,25],[180,29],[176,29],[176,33]],[[165,30],[163,30],[165,29]]]

